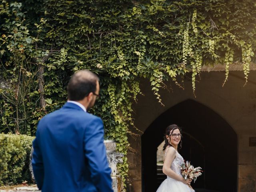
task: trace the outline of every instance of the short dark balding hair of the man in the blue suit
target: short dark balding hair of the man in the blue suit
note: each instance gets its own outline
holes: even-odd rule
[[[89,70],[80,70],[72,75],[68,82],[68,99],[79,101],[88,96],[90,92],[95,93],[98,76]]]

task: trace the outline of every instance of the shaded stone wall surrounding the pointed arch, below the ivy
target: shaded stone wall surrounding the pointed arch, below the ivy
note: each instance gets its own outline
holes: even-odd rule
[[[249,81],[244,86],[243,72],[232,71],[223,88],[224,72],[202,72],[200,77],[201,80],[196,82],[196,98],[192,93],[190,78],[185,79],[182,85],[184,90],[172,82],[166,82],[169,90],[160,92],[165,106],[157,102],[150,83],[141,80],[144,96],[139,96],[137,104],[134,104],[135,126],[144,132],[160,114],[188,99],[207,106],[224,118],[238,135],[238,192],[255,192],[256,146],[249,146],[249,138],[256,137],[256,72],[250,71]],[[129,141],[137,151],[128,155],[132,184],[129,191],[141,192],[141,138],[129,138]]]

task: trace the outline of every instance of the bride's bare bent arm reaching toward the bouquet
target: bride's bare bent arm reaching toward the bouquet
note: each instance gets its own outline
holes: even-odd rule
[[[167,150],[167,149],[166,149]],[[190,184],[190,179],[184,179],[182,176],[176,174],[170,167],[175,158],[176,150],[173,147],[169,147],[164,159],[163,173],[175,180],[181,181],[184,184]]]

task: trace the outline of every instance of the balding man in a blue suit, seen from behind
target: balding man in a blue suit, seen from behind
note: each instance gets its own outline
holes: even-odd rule
[[[42,192],[113,192],[102,120],[86,112],[99,91],[94,73],[76,72],[68,102],[38,123],[32,166]]]

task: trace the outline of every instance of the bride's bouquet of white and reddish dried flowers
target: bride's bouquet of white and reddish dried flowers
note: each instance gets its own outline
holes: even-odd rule
[[[194,182],[196,181],[196,178],[200,175],[202,175],[202,168],[201,167],[196,167],[192,166],[189,161],[184,162],[182,164],[181,168],[181,174],[182,176],[187,179],[193,179]]]

